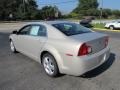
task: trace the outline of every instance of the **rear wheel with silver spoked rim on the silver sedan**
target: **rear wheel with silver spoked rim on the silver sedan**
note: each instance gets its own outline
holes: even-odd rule
[[[48,76],[51,76],[51,77],[58,76],[59,74],[58,66],[55,58],[51,54],[46,53],[43,55],[42,64],[43,64],[44,71]]]

